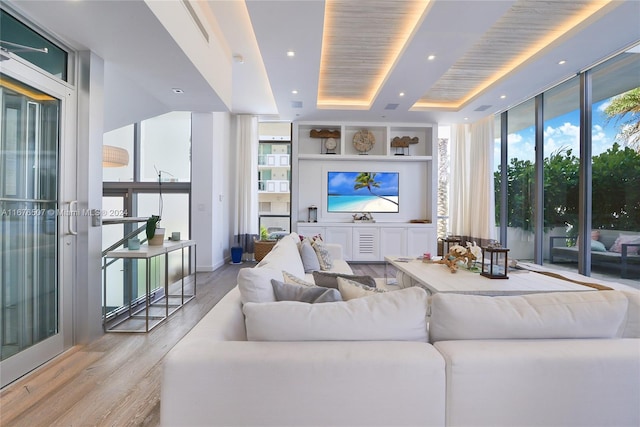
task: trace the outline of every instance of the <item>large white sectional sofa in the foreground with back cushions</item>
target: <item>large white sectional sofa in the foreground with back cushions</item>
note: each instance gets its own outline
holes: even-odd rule
[[[298,241],[243,269],[169,352],[163,426],[640,425],[638,292],[276,302],[272,278],[312,279]]]

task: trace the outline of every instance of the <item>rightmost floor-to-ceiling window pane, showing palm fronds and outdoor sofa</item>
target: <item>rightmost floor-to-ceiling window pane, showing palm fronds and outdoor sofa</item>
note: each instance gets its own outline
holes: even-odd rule
[[[592,240],[621,253],[623,243],[640,244],[640,46],[595,67],[591,79]],[[591,268],[611,270],[594,256]]]

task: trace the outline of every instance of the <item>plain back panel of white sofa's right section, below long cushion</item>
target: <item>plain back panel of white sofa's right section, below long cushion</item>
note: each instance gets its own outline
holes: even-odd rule
[[[640,425],[640,340],[465,340],[446,360],[446,425]]]

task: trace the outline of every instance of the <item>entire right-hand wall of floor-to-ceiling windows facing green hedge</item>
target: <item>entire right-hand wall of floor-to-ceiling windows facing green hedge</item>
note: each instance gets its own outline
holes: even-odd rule
[[[536,100],[542,102],[538,127]],[[508,236],[510,255],[637,281],[640,265],[633,261],[627,271],[620,256],[622,243],[640,244],[640,46],[501,117],[509,133],[508,162],[501,166],[507,170],[508,190],[500,193],[497,171],[496,213],[506,203],[501,232]],[[583,123],[590,128],[581,129]],[[537,150],[544,153],[540,182],[535,179]],[[536,194],[543,196],[542,202],[536,202]],[[543,219],[537,229],[534,216],[540,211]],[[543,242],[539,253],[534,241]],[[638,246],[627,251],[639,253]]]

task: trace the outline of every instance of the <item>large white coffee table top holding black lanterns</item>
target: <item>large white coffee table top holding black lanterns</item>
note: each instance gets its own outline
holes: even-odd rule
[[[456,273],[452,273],[446,265],[425,263],[418,259],[409,260],[401,256],[385,256],[384,259],[387,265],[407,274],[429,293],[497,296],[594,290],[588,286],[529,270],[510,272],[508,279],[489,279],[464,269],[458,269]]]

